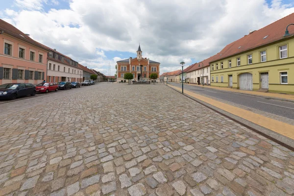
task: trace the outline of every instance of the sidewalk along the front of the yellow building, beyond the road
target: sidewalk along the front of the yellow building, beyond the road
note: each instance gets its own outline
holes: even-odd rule
[[[202,85],[187,84],[187,83],[185,83],[185,85],[199,86],[199,87],[210,88],[210,89],[215,89],[219,91],[227,91],[227,92],[240,93],[240,94],[246,94],[246,95],[294,101],[294,95],[290,95],[290,94],[285,95],[285,94],[277,94],[277,93],[264,93],[264,92],[258,92],[258,91],[246,91],[246,90],[240,90],[240,89],[231,89],[231,88],[207,86],[207,85],[202,86]]]

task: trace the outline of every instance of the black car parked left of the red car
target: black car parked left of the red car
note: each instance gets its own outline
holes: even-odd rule
[[[23,96],[35,96],[36,87],[29,83],[8,83],[0,85],[0,98],[16,99]]]

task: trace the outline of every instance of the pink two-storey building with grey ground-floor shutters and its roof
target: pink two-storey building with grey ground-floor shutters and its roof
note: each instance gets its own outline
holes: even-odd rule
[[[47,53],[40,43],[0,19],[0,84],[38,84],[46,78]]]

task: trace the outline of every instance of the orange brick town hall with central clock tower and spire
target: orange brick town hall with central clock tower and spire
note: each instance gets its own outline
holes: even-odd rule
[[[151,61],[148,58],[142,57],[142,50],[139,45],[136,58],[128,58],[117,61],[117,81],[124,81],[123,76],[125,73],[133,73],[135,81],[150,81],[149,75],[157,73],[159,82],[159,65],[156,61]]]

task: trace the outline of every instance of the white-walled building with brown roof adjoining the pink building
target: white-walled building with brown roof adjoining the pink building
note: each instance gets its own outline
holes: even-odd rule
[[[81,82],[83,70],[78,63],[55,49],[49,49],[47,63],[47,82]]]

